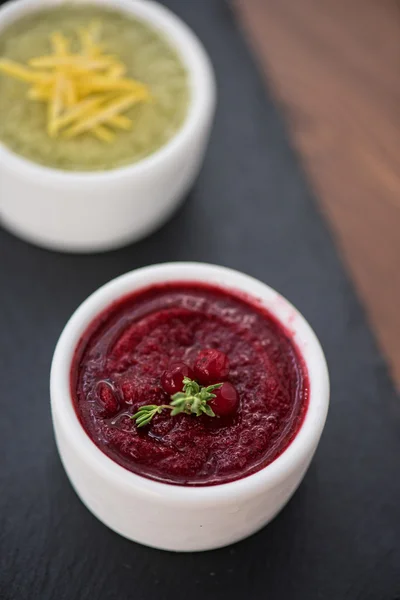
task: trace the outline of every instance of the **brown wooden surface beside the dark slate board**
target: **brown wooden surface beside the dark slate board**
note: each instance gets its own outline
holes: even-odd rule
[[[400,385],[400,4],[236,5]]]

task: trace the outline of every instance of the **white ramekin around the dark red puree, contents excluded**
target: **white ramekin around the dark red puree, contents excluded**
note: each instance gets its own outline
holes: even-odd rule
[[[270,465],[238,481],[182,487],[127,471],[92,442],[70,394],[75,347],[92,320],[116,299],[151,284],[201,281],[260,299],[293,332],[310,381],[304,422],[289,447]],[[321,346],[301,314],[267,285],[224,267],[166,263],[132,271],[94,292],[68,321],[57,344],[50,377],[58,450],[78,496],[105,525],[164,550],[209,550],[236,542],[268,523],[301,482],[320,439],[329,404],[329,377]]]

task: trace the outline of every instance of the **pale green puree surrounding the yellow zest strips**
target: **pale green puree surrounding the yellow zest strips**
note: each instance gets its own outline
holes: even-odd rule
[[[100,20],[100,42],[107,54],[116,54],[127,76],[150,88],[153,102],[132,107],[124,114],[133,120],[129,131],[116,131],[105,143],[92,134],[50,138],[46,104],[27,98],[29,85],[0,74],[0,142],[34,162],[71,171],[97,171],[128,165],[163,146],[181,127],[187,112],[187,72],[176,51],[146,23],[97,5],[64,4],[13,23],[0,34],[0,57],[26,64],[49,54],[49,36],[61,31],[78,44],[76,30]],[[77,50],[78,46],[73,50]]]

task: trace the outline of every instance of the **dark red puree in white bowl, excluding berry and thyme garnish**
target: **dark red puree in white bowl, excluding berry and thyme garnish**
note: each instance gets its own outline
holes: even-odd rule
[[[199,351],[229,359],[239,394],[229,417],[169,410],[137,428],[144,404],[169,404],[161,376],[171,364],[193,369]],[[290,333],[256,300],[198,283],[152,286],[122,298],[90,325],[73,359],[79,419],[112,460],[144,477],[215,485],[254,473],[285,450],[308,402],[304,362]]]

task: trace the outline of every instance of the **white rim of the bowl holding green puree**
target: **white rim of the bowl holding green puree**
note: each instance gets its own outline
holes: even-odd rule
[[[104,171],[68,171],[36,163],[9,149],[0,141],[0,161],[13,171],[24,171],[31,179],[52,180],[60,184],[90,184],[112,181],[120,177],[146,174],[185,146],[198,127],[214,110],[216,85],[210,58],[196,34],[165,6],[154,0],[69,0],[71,4],[98,5],[126,12],[159,30],[175,48],[185,65],[190,87],[189,105],[179,130],[155,152],[132,164]],[[0,32],[24,16],[61,5],[65,0],[11,0],[0,7]]]

